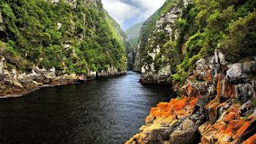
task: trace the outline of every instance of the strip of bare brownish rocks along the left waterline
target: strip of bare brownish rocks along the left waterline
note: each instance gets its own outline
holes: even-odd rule
[[[95,78],[110,77],[119,74],[126,74],[126,71],[118,71],[113,67],[108,70],[96,73],[90,71],[89,74],[61,74],[57,75],[55,68],[46,70],[33,66],[30,73],[21,73],[16,69],[10,70],[7,67],[6,59],[0,59],[0,98],[21,97],[47,86],[62,86],[87,82]]]

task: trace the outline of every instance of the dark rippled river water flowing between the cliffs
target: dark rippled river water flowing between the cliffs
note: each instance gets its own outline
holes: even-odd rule
[[[46,87],[0,99],[0,143],[124,143],[151,106],[168,102],[166,86],[143,86],[140,74]]]

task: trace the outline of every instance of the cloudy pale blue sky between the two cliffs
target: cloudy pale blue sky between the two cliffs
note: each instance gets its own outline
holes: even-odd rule
[[[166,0],[102,0],[104,8],[119,23],[122,30],[144,22],[164,2]]]

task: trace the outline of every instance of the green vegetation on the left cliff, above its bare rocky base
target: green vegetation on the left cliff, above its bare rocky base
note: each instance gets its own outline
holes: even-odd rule
[[[87,74],[108,66],[126,70],[122,39],[96,2],[78,0],[72,6],[64,0],[0,1],[1,53],[10,66],[25,72],[34,65],[55,67],[58,74]]]

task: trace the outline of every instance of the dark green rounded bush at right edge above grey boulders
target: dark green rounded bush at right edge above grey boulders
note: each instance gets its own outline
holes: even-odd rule
[[[229,34],[221,42],[222,51],[230,62],[238,62],[242,58],[256,54],[256,12],[239,18],[230,24]]]

